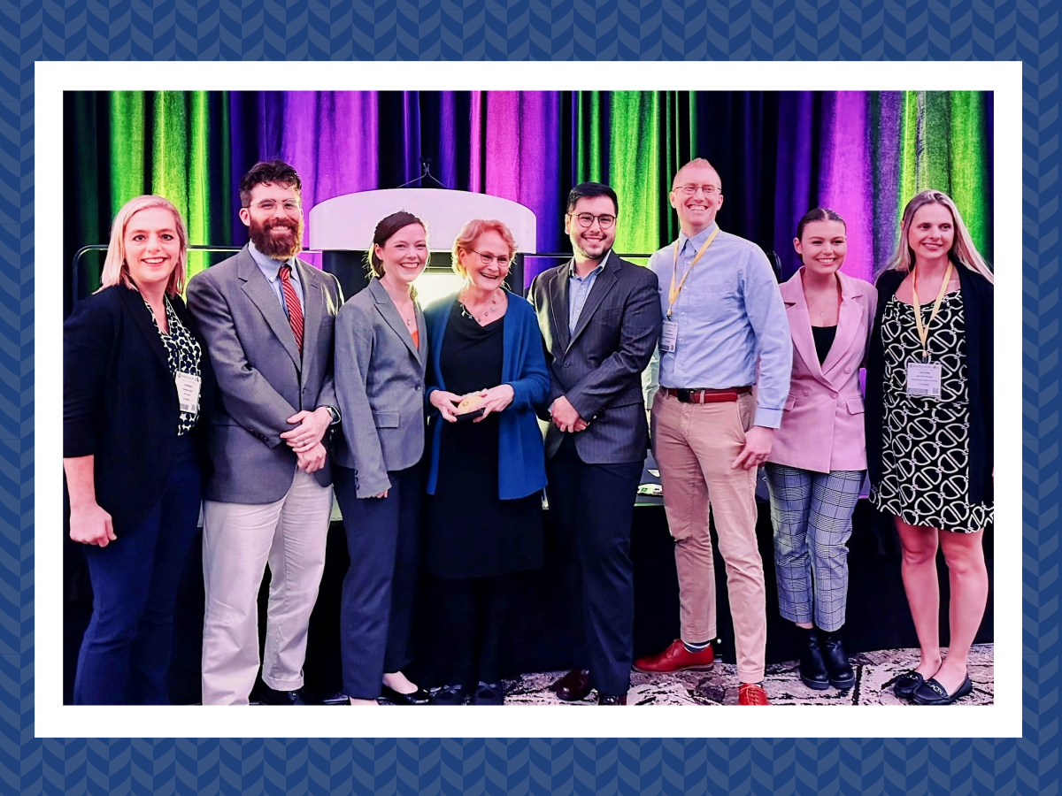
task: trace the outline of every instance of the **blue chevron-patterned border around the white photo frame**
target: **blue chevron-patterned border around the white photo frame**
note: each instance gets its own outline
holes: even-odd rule
[[[926,5],[0,0],[0,780],[23,794],[1057,793],[1058,13]],[[34,738],[34,62],[352,58],[1023,62],[1022,739]]]

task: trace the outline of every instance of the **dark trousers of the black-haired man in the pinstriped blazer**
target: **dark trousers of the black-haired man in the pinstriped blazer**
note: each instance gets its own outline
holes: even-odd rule
[[[631,521],[641,462],[586,464],[568,435],[546,464],[568,586],[576,665],[599,693],[626,694],[634,646]]]

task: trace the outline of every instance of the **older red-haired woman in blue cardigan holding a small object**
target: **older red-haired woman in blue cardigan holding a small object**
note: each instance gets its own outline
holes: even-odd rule
[[[428,308],[432,418],[426,559],[441,631],[456,653],[436,705],[500,705],[507,575],[542,566],[546,465],[535,408],[549,373],[531,305],[504,289],[516,252],[498,221],[465,224],[453,270],[465,283]]]

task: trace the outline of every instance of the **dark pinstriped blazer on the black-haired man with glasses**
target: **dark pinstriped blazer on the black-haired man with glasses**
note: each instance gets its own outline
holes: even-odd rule
[[[649,430],[641,397],[645,370],[661,333],[656,275],[609,253],[568,333],[568,269],[564,263],[535,277],[530,300],[538,316],[550,370],[546,405],[566,396],[589,425],[575,432],[576,450],[587,464],[641,462]],[[550,423],[546,457],[564,434]]]

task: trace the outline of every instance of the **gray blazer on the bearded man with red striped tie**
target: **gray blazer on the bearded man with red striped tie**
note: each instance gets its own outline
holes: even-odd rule
[[[302,260],[295,269],[304,293],[302,357],[284,308],[246,246],[188,283],[188,311],[218,377],[207,500],[280,500],[297,468],[295,452],[280,438],[294,428],[288,418],[304,409],[337,405],[332,331],[343,294],[331,274]],[[314,474],[322,486],[331,483],[327,466]]]

